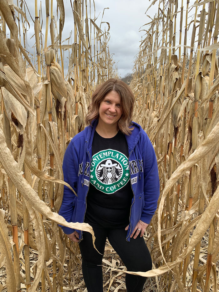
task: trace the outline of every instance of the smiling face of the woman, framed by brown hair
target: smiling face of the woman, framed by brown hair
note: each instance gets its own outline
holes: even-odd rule
[[[100,102],[99,123],[100,125],[117,126],[121,115],[120,95],[116,91],[110,91]]]

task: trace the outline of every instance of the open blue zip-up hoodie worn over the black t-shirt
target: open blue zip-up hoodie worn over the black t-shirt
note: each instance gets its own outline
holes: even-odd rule
[[[154,148],[145,131],[135,122],[131,135],[125,135],[129,151],[129,170],[133,198],[130,210],[130,224],[126,240],[141,219],[150,223],[157,208],[160,194],[157,160]],[[64,181],[74,189],[77,196],[66,186],[59,215],[67,222],[84,222],[86,212],[86,196],[89,190],[90,164],[92,159],[92,141],[98,120],[88,126],[69,143],[63,159]],[[82,171],[79,165],[82,163]],[[82,174],[81,174],[82,173]],[[61,225],[60,225],[61,226]],[[74,229],[61,226],[64,233],[71,234]],[[82,238],[82,231],[79,239]]]

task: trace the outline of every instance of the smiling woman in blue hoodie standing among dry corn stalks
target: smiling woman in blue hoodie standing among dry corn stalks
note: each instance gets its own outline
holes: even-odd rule
[[[92,95],[89,125],[69,143],[63,160],[64,186],[59,215],[68,222],[89,223],[88,232],[62,227],[79,243],[88,292],[103,291],[102,259],[106,238],[128,271],[152,267],[143,234],[157,208],[159,177],[153,146],[132,122],[134,95],[120,79],[109,79]],[[83,239],[83,240],[82,240]],[[128,292],[140,292],[145,277],[126,274]]]

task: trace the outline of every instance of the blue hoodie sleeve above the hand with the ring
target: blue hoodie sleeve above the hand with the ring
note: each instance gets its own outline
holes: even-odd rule
[[[145,149],[142,150],[142,153],[144,159],[145,207],[140,219],[149,224],[157,208],[157,201],[160,195],[160,181],[154,148],[145,132],[144,134],[146,141],[143,144]]]

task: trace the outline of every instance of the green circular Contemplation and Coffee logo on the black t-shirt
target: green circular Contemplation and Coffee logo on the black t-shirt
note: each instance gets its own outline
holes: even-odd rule
[[[128,158],[120,151],[107,149],[92,157],[90,183],[105,194],[121,189],[130,180]]]

